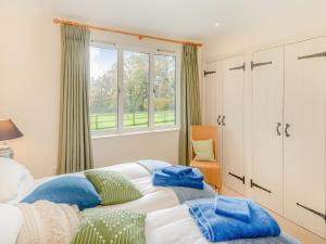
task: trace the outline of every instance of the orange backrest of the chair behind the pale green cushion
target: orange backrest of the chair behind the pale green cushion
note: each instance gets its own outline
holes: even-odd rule
[[[217,160],[217,128],[216,126],[191,126],[191,140],[209,140],[213,139],[214,156]],[[191,143],[191,159],[195,158],[193,146]]]

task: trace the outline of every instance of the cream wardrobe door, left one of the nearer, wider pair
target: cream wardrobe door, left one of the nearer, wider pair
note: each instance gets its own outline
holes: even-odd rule
[[[253,198],[283,215],[284,48],[253,53]]]

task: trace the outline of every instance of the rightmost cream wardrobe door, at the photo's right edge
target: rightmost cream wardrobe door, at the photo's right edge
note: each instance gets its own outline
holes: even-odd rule
[[[325,219],[317,215],[325,215],[326,210],[326,57],[323,52],[326,52],[326,38],[285,49],[288,136],[284,140],[284,211],[287,218],[325,236]]]

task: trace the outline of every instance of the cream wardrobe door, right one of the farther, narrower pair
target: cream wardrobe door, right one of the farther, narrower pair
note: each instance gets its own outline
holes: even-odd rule
[[[223,181],[240,194],[244,184],[242,158],[243,56],[223,62]],[[235,69],[236,68],[236,69]]]

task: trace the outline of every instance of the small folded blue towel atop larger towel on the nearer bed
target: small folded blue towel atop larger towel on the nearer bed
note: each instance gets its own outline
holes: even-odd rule
[[[214,208],[217,215],[244,222],[249,222],[251,218],[248,202],[243,197],[216,196]]]

